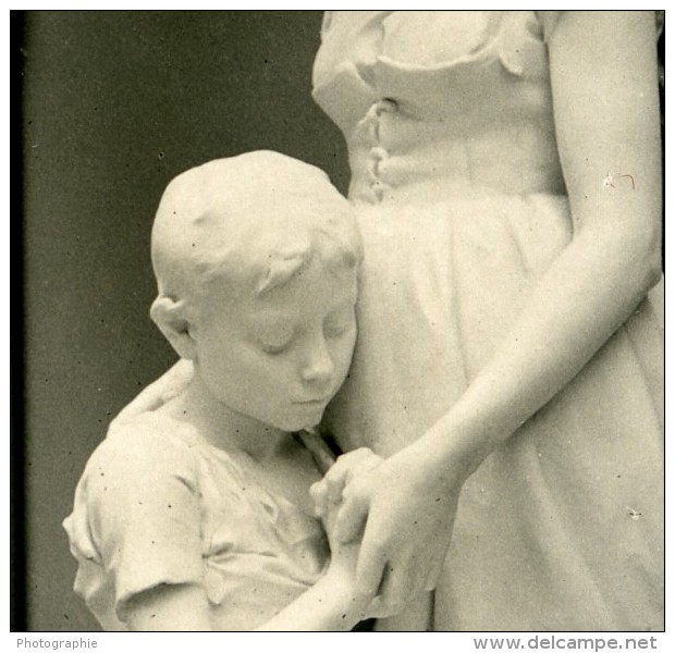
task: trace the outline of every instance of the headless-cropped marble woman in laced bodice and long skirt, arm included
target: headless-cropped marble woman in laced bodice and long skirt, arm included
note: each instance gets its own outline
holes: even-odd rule
[[[381,627],[663,628],[655,44],[653,12],[324,19],[366,252],[328,422],[388,458],[339,523],[394,603],[452,532]]]

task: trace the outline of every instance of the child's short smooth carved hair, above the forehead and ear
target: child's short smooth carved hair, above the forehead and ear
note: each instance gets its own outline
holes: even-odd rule
[[[315,257],[358,269],[363,246],[328,175],[273,151],[210,161],[167,187],[152,226],[158,298],[195,309],[213,281],[234,294],[284,284]]]

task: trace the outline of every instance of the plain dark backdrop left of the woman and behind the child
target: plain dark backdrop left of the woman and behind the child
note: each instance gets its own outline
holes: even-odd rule
[[[148,318],[167,183],[265,148],[346,189],[342,137],[310,97],[320,24],[305,11],[12,12],[24,308],[12,331],[12,630],[98,629],[72,591],[61,521],[109,420],[174,360]]]

